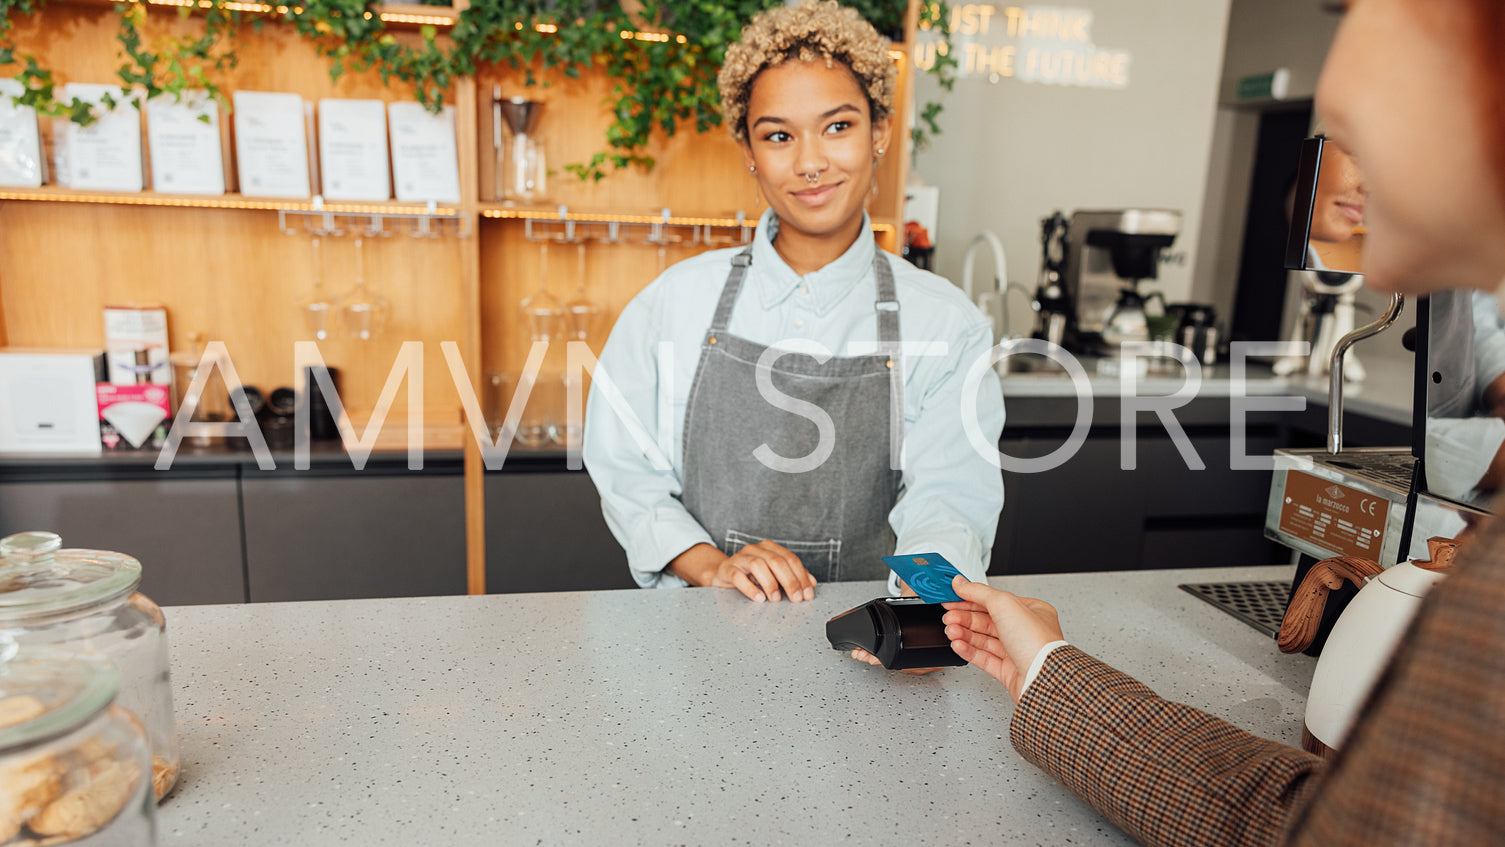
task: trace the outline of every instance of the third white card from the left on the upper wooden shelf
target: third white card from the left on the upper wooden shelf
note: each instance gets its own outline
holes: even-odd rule
[[[220,104],[203,90],[181,101],[155,96],[146,104],[152,188],[169,194],[224,194]]]

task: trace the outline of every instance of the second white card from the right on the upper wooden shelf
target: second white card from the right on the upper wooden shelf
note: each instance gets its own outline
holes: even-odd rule
[[[319,170],[327,200],[391,199],[382,101],[319,101]]]

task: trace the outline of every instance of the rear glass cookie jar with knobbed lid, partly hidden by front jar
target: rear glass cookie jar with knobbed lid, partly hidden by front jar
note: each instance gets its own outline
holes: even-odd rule
[[[141,563],[116,552],[62,546],[54,533],[0,540],[0,638],[102,653],[116,663],[116,703],[146,727],[152,785],[161,800],[178,784],[167,618],[135,590]]]

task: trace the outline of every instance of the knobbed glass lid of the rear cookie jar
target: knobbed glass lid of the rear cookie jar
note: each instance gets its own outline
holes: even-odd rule
[[[141,582],[128,555],[62,548],[57,533],[0,540],[0,624],[93,606]]]

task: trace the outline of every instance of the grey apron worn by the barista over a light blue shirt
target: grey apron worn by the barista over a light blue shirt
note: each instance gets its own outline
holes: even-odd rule
[[[905,426],[894,272],[882,253],[873,257],[879,354],[819,363],[784,352],[765,376],[780,393],[819,406],[835,423],[835,448],[826,460],[816,469],[786,472],[759,460],[759,447],[801,459],[816,450],[820,433],[814,421],[759,391],[757,363],[769,348],[727,332],[751,263],[751,250],[731,259],[700,348],[685,408],[680,499],[727,555],[772,540],[798,555],[820,582],[882,579],[888,576],[882,557],[894,552],[888,513],[898,501],[901,475],[889,456],[898,454]]]

